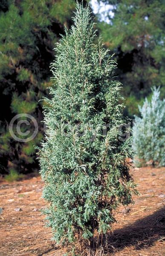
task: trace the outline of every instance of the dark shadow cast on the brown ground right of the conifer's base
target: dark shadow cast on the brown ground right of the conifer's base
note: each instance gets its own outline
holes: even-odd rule
[[[124,247],[134,246],[135,250],[150,247],[155,241],[165,239],[165,207],[145,218],[124,226],[108,235],[109,252],[120,251]]]

